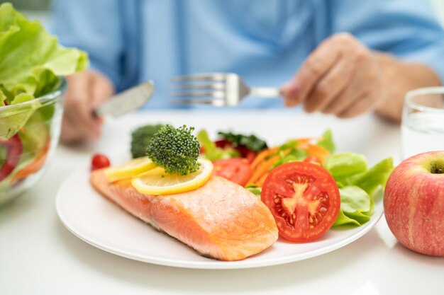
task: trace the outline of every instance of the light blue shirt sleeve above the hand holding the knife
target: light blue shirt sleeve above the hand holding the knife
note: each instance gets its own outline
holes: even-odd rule
[[[62,45],[88,52],[91,68],[119,88],[123,32],[117,0],[56,0],[51,23]]]

